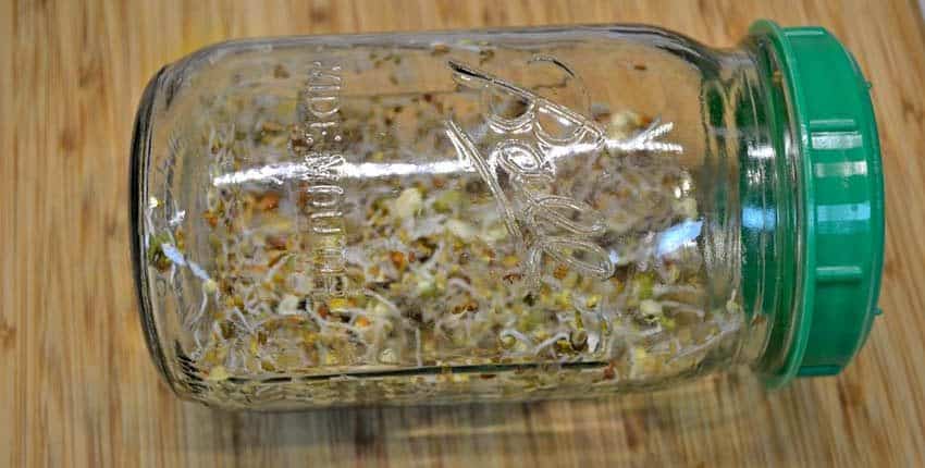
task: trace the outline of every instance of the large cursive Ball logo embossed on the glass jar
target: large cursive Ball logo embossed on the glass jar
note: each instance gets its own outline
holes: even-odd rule
[[[556,59],[540,56],[531,63],[536,61],[554,63],[575,77]],[[673,124],[655,121],[632,137],[608,138],[577,110],[466,63],[447,65],[458,84],[479,94],[488,127],[499,140],[480,149],[478,138],[452,118],[445,123],[446,135],[460,163],[488,185],[507,231],[525,248],[526,273],[538,278],[544,257],[550,257],[581,274],[612,276],[614,262],[595,243],[606,231],[605,220],[588,204],[555,193],[557,160],[595,150],[680,152],[679,145],[658,140]],[[505,102],[516,103],[514,110]]]

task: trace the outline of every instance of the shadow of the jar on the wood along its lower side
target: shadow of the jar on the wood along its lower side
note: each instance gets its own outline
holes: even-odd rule
[[[659,433],[732,436],[765,406],[760,384],[741,373],[653,393],[605,398],[442,406],[384,406],[303,412],[232,412],[186,404],[186,449],[306,448],[356,455],[390,447],[448,452],[505,451],[575,440],[629,448]],[[744,422],[743,422],[744,421]],[[747,435],[737,434],[740,441]],[[755,434],[757,439],[757,434]],[[614,442],[616,441],[616,442]],[[756,441],[757,443],[757,441]],[[410,448],[409,448],[410,447]],[[526,449],[526,448],[525,448]]]

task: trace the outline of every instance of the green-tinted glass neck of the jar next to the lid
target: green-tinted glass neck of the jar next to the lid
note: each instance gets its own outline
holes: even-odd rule
[[[748,90],[737,107],[740,127],[754,128],[739,152],[741,295],[748,320],[739,361],[758,373],[784,365],[801,295],[801,210],[791,108],[778,58],[764,44],[741,49]]]

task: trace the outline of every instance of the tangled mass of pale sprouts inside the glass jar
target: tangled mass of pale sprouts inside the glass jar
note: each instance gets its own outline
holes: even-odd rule
[[[394,64],[395,57],[375,60]],[[283,66],[279,76],[297,70],[279,66]],[[403,167],[407,155],[441,155],[443,150],[434,148],[451,144],[443,127],[442,106],[447,102],[443,96],[378,99],[372,106],[358,98],[342,102],[338,125],[356,150],[350,156],[356,160],[349,163]],[[293,101],[257,106],[221,96],[209,106],[212,116],[201,151],[209,157],[210,175],[232,168],[270,167],[281,162],[280,155],[312,150],[304,133],[291,132],[279,124],[287,121],[274,115],[284,108],[294,113]],[[630,110],[597,108],[609,114],[599,118],[614,140],[643,134],[655,121]],[[215,115],[224,115],[229,123],[217,124],[221,119]],[[411,126],[410,132],[398,128],[398,119]],[[659,124],[650,130],[665,128]],[[486,132],[478,144],[492,143]],[[614,145],[618,147],[624,148]],[[210,386],[210,392],[232,385],[245,392],[236,379],[227,380],[267,373],[324,375],[384,367],[542,362],[601,366],[582,372],[546,368],[498,372],[490,381],[470,381],[458,373],[440,379],[383,378],[370,380],[359,393],[433,391],[428,385],[437,381],[490,383],[506,392],[526,392],[555,379],[588,382],[589,387],[591,382],[610,386],[627,380],[661,382],[728,353],[724,340],[742,327],[743,319],[735,292],[715,303],[728,299],[726,307],[706,307],[719,299],[705,291],[705,263],[698,249],[659,257],[654,239],[666,227],[699,217],[699,194],[674,153],[656,151],[655,146],[609,153],[601,148],[587,157],[562,158],[554,169],[555,183],[543,188],[550,184],[525,182],[526,195],[511,193],[508,181],[502,181],[502,193],[493,194],[498,187],[468,172],[359,177],[345,184],[343,194],[328,186],[330,197],[314,199],[324,205],[341,197],[336,208],[343,222],[322,225],[326,235],[317,234],[309,223],[320,209],[307,198],[304,180],[209,186],[202,218],[196,220],[207,235],[187,233],[186,242],[200,243],[206,250],[188,251],[171,232],[161,232],[150,238],[147,257],[163,273],[174,264],[171,255],[203,266],[201,292],[207,299],[197,304],[202,309],[196,320],[184,327],[196,327],[188,355],[205,379],[225,381]],[[509,197],[505,199],[517,212],[529,202],[527,196],[564,194],[603,218],[592,241],[609,255],[613,276],[601,280],[576,271],[574,264],[585,260],[581,251],[544,256],[535,264],[528,261],[535,237],[566,238],[569,233],[563,226],[580,220],[572,213],[556,213],[555,223],[541,232],[521,219],[507,224],[496,204],[496,197]],[[318,246],[326,249],[323,255]],[[678,356],[683,358],[671,359]],[[547,380],[544,372],[551,372]],[[313,401],[320,395],[346,398],[347,393],[340,391],[345,387],[337,386],[344,379],[307,379],[289,383],[295,390],[287,392],[311,395]]]

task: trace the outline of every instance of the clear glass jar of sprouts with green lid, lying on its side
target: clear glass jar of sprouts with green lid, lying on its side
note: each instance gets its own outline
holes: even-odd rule
[[[232,408],[837,373],[883,259],[868,85],[821,28],[224,42],[148,85],[140,316]],[[850,248],[844,248],[850,246]]]

